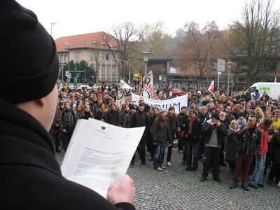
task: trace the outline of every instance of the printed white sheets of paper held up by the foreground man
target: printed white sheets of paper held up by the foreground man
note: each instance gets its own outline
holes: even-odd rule
[[[78,120],[62,162],[62,175],[106,198],[110,184],[125,176],[144,130]]]

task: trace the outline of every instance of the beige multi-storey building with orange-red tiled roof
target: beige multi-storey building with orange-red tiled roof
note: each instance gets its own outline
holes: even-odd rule
[[[102,81],[114,83],[120,78],[118,74],[120,55],[116,50],[117,42],[113,36],[100,31],[60,37],[55,40],[55,44],[57,45],[59,64],[67,64],[71,60],[75,63],[85,60],[94,68],[94,71],[97,71],[97,83]]]

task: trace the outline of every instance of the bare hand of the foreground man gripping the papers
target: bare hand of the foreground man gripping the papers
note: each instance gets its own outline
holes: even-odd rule
[[[120,182],[120,184],[111,183],[107,193],[107,200],[109,200],[112,204],[123,202],[132,204],[134,202],[134,193],[135,188],[133,180],[130,176],[125,175],[125,178]]]

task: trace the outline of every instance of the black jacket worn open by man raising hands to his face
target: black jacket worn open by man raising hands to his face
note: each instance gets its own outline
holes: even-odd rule
[[[205,123],[204,126],[202,127],[202,134],[204,135],[207,143],[211,139],[212,130],[215,129],[215,127],[210,123],[211,123],[211,119],[207,120],[207,123]],[[228,133],[227,127],[225,127],[225,124],[221,123],[221,126],[217,127],[217,138],[218,138],[219,146],[225,144],[225,136],[227,135],[227,133]]]

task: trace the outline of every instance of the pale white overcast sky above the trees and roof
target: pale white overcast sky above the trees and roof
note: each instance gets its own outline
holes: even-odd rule
[[[232,20],[241,17],[246,0],[18,0],[36,13],[41,24],[52,36],[109,31],[113,24],[164,22],[166,31],[174,36],[186,22],[201,27],[212,20],[225,29]],[[280,8],[280,1],[275,1]]]

